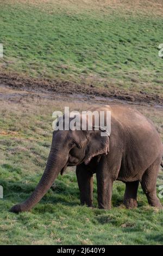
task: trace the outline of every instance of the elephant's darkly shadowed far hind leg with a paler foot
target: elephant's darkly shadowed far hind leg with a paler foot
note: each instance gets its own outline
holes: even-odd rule
[[[127,209],[137,207],[137,189],[139,187],[139,180],[133,182],[126,182],[126,191],[124,193],[124,205]]]

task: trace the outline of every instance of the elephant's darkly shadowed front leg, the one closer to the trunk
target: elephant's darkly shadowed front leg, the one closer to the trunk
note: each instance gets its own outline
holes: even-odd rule
[[[80,191],[80,202],[87,206],[93,203],[93,174],[86,170],[84,164],[76,168],[77,180]]]

